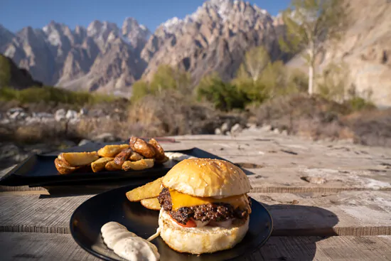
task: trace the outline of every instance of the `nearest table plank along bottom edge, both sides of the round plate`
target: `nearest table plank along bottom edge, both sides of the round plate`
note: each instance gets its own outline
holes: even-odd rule
[[[246,260],[390,260],[391,236],[272,237]],[[0,233],[1,260],[99,260],[70,235]],[[164,260],[162,260],[164,261]]]

